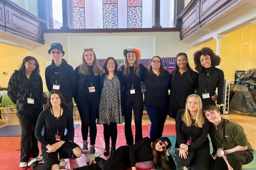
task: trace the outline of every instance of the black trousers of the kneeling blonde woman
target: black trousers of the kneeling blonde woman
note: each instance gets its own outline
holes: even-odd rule
[[[199,148],[188,151],[187,158],[179,156],[179,150],[176,153],[175,161],[180,166],[191,166],[192,170],[209,170],[210,145],[205,142]]]

